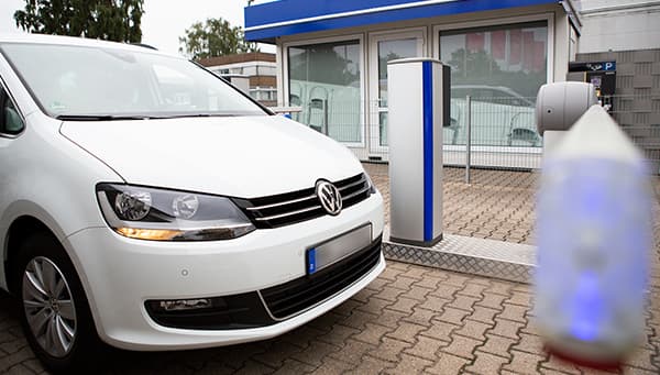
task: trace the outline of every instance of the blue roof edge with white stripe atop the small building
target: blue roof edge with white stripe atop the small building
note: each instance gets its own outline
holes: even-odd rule
[[[245,8],[245,38],[406,21],[488,10],[562,3],[573,20],[571,0],[279,0]]]

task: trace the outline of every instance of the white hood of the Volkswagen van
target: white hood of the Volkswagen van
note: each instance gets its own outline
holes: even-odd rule
[[[343,145],[279,115],[68,121],[61,133],[129,184],[231,197],[288,192],[363,170]]]

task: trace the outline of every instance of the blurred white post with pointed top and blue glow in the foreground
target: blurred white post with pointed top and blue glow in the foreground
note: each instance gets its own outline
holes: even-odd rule
[[[593,106],[546,154],[536,317],[548,346],[616,363],[644,332],[652,195],[641,153]]]

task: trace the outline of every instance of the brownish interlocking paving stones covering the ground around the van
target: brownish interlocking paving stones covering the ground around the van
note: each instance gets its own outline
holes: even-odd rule
[[[505,196],[512,197],[505,208],[515,203],[513,197],[528,197],[525,199],[530,201],[507,211],[504,220],[513,220],[519,214],[522,218],[519,225],[529,222],[531,228],[528,216],[532,207],[530,187],[534,178],[529,174],[513,174],[501,185],[492,184],[493,189],[502,189],[502,185],[512,178],[519,178],[519,184],[529,181],[526,189],[510,186],[512,190],[505,191]],[[372,176],[387,195],[382,174],[372,173]],[[459,181],[457,179],[457,185],[452,185],[452,179],[446,179],[446,197],[453,197],[446,199],[446,218],[452,210],[459,212],[461,209],[460,205],[447,203],[453,199],[465,199],[466,203],[496,203],[497,198],[466,197],[471,191],[468,188],[461,190]],[[474,184],[473,187],[484,191],[476,196],[487,195],[491,191],[487,185]],[[462,192],[453,191],[452,187]],[[491,206],[483,211],[490,209]],[[528,213],[522,214],[522,211]],[[656,211],[660,213],[660,210]],[[486,214],[460,212],[457,216],[472,214],[470,222],[482,220]],[[499,206],[492,213],[501,220],[497,212],[502,213]],[[462,228],[446,224],[450,232],[472,231],[466,229],[468,224],[459,227]],[[660,225],[656,225],[656,232],[658,238]],[[516,239],[514,235],[505,235],[505,239],[530,241],[527,230]],[[647,340],[623,365],[620,372],[625,374],[660,374],[658,250],[652,258],[646,310]],[[279,338],[190,352],[112,353],[108,361],[99,364],[98,373],[606,374],[576,367],[546,353],[531,319],[531,300],[529,285],[388,262],[381,277],[355,297]],[[16,301],[0,294],[0,373],[42,373],[43,368],[34,360],[20,330],[18,315]]]

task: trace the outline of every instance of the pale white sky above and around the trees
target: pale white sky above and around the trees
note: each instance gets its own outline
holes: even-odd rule
[[[265,1],[255,1],[260,3]],[[142,42],[168,53],[178,53],[178,37],[193,23],[223,18],[233,26],[244,27],[243,8],[248,0],[144,0]],[[13,13],[25,7],[24,0],[0,0],[0,32],[20,32]],[[263,52],[275,48],[262,45]]]

